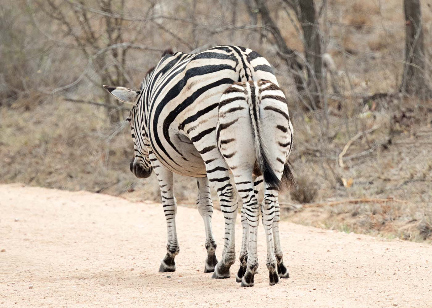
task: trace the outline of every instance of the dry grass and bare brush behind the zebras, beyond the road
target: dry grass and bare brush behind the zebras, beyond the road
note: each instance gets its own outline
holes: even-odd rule
[[[302,25],[289,2],[265,5],[302,59]],[[236,44],[269,60],[289,101],[299,188],[280,198],[285,219],[431,241],[432,101],[398,92],[402,0],[315,1],[321,51],[335,64],[325,69],[321,108],[296,91],[260,1],[0,3],[1,182],[158,201],[156,177],[141,180],[129,171],[128,108],[101,85],[136,88],[168,47]],[[432,9],[429,1],[421,4],[424,74],[432,86]],[[176,179],[178,203],[194,204],[195,180]],[[331,203],[340,200],[350,201]]]

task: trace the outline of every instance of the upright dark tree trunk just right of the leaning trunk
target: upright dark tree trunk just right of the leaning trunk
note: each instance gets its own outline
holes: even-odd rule
[[[299,22],[305,39],[305,57],[308,62],[308,90],[311,93],[313,107],[320,107],[320,97],[323,91],[321,33],[313,0],[299,1]]]

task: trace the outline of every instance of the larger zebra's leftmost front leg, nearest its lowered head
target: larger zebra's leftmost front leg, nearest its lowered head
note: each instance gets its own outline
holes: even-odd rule
[[[150,159],[152,157],[150,156]],[[172,172],[154,161],[153,170],[159,181],[159,187],[162,195],[162,207],[165,213],[166,225],[168,230],[168,242],[166,245],[166,255],[163,258],[159,272],[174,272],[174,258],[178,255],[180,248],[177,241],[177,231],[175,229],[175,215],[177,214],[177,202],[173,193]]]

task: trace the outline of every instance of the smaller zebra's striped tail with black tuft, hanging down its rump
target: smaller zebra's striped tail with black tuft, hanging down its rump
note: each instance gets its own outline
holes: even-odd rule
[[[251,85],[251,101],[249,101],[249,112],[251,113],[252,130],[254,131],[254,145],[255,155],[257,160],[257,166],[263,174],[264,181],[276,190],[282,188],[283,182],[278,179],[276,173],[273,170],[273,166],[270,163],[268,151],[265,146],[264,138],[261,134],[261,120],[260,120],[260,102],[258,101],[255,94],[255,87],[253,83]],[[285,170],[284,170],[285,171]]]

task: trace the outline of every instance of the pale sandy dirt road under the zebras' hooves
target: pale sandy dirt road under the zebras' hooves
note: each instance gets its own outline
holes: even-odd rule
[[[291,278],[269,286],[260,227],[255,286],[241,288],[238,261],[230,279],[203,273],[201,217],[186,207],[177,215],[177,271],[159,273],[166,239],[159,204],[0,185],[0,307],[432,307],[430,245],[284,222]],[[218,257],[222,228],[216,211]],[[238,249],[240,236],[238,224]]]

